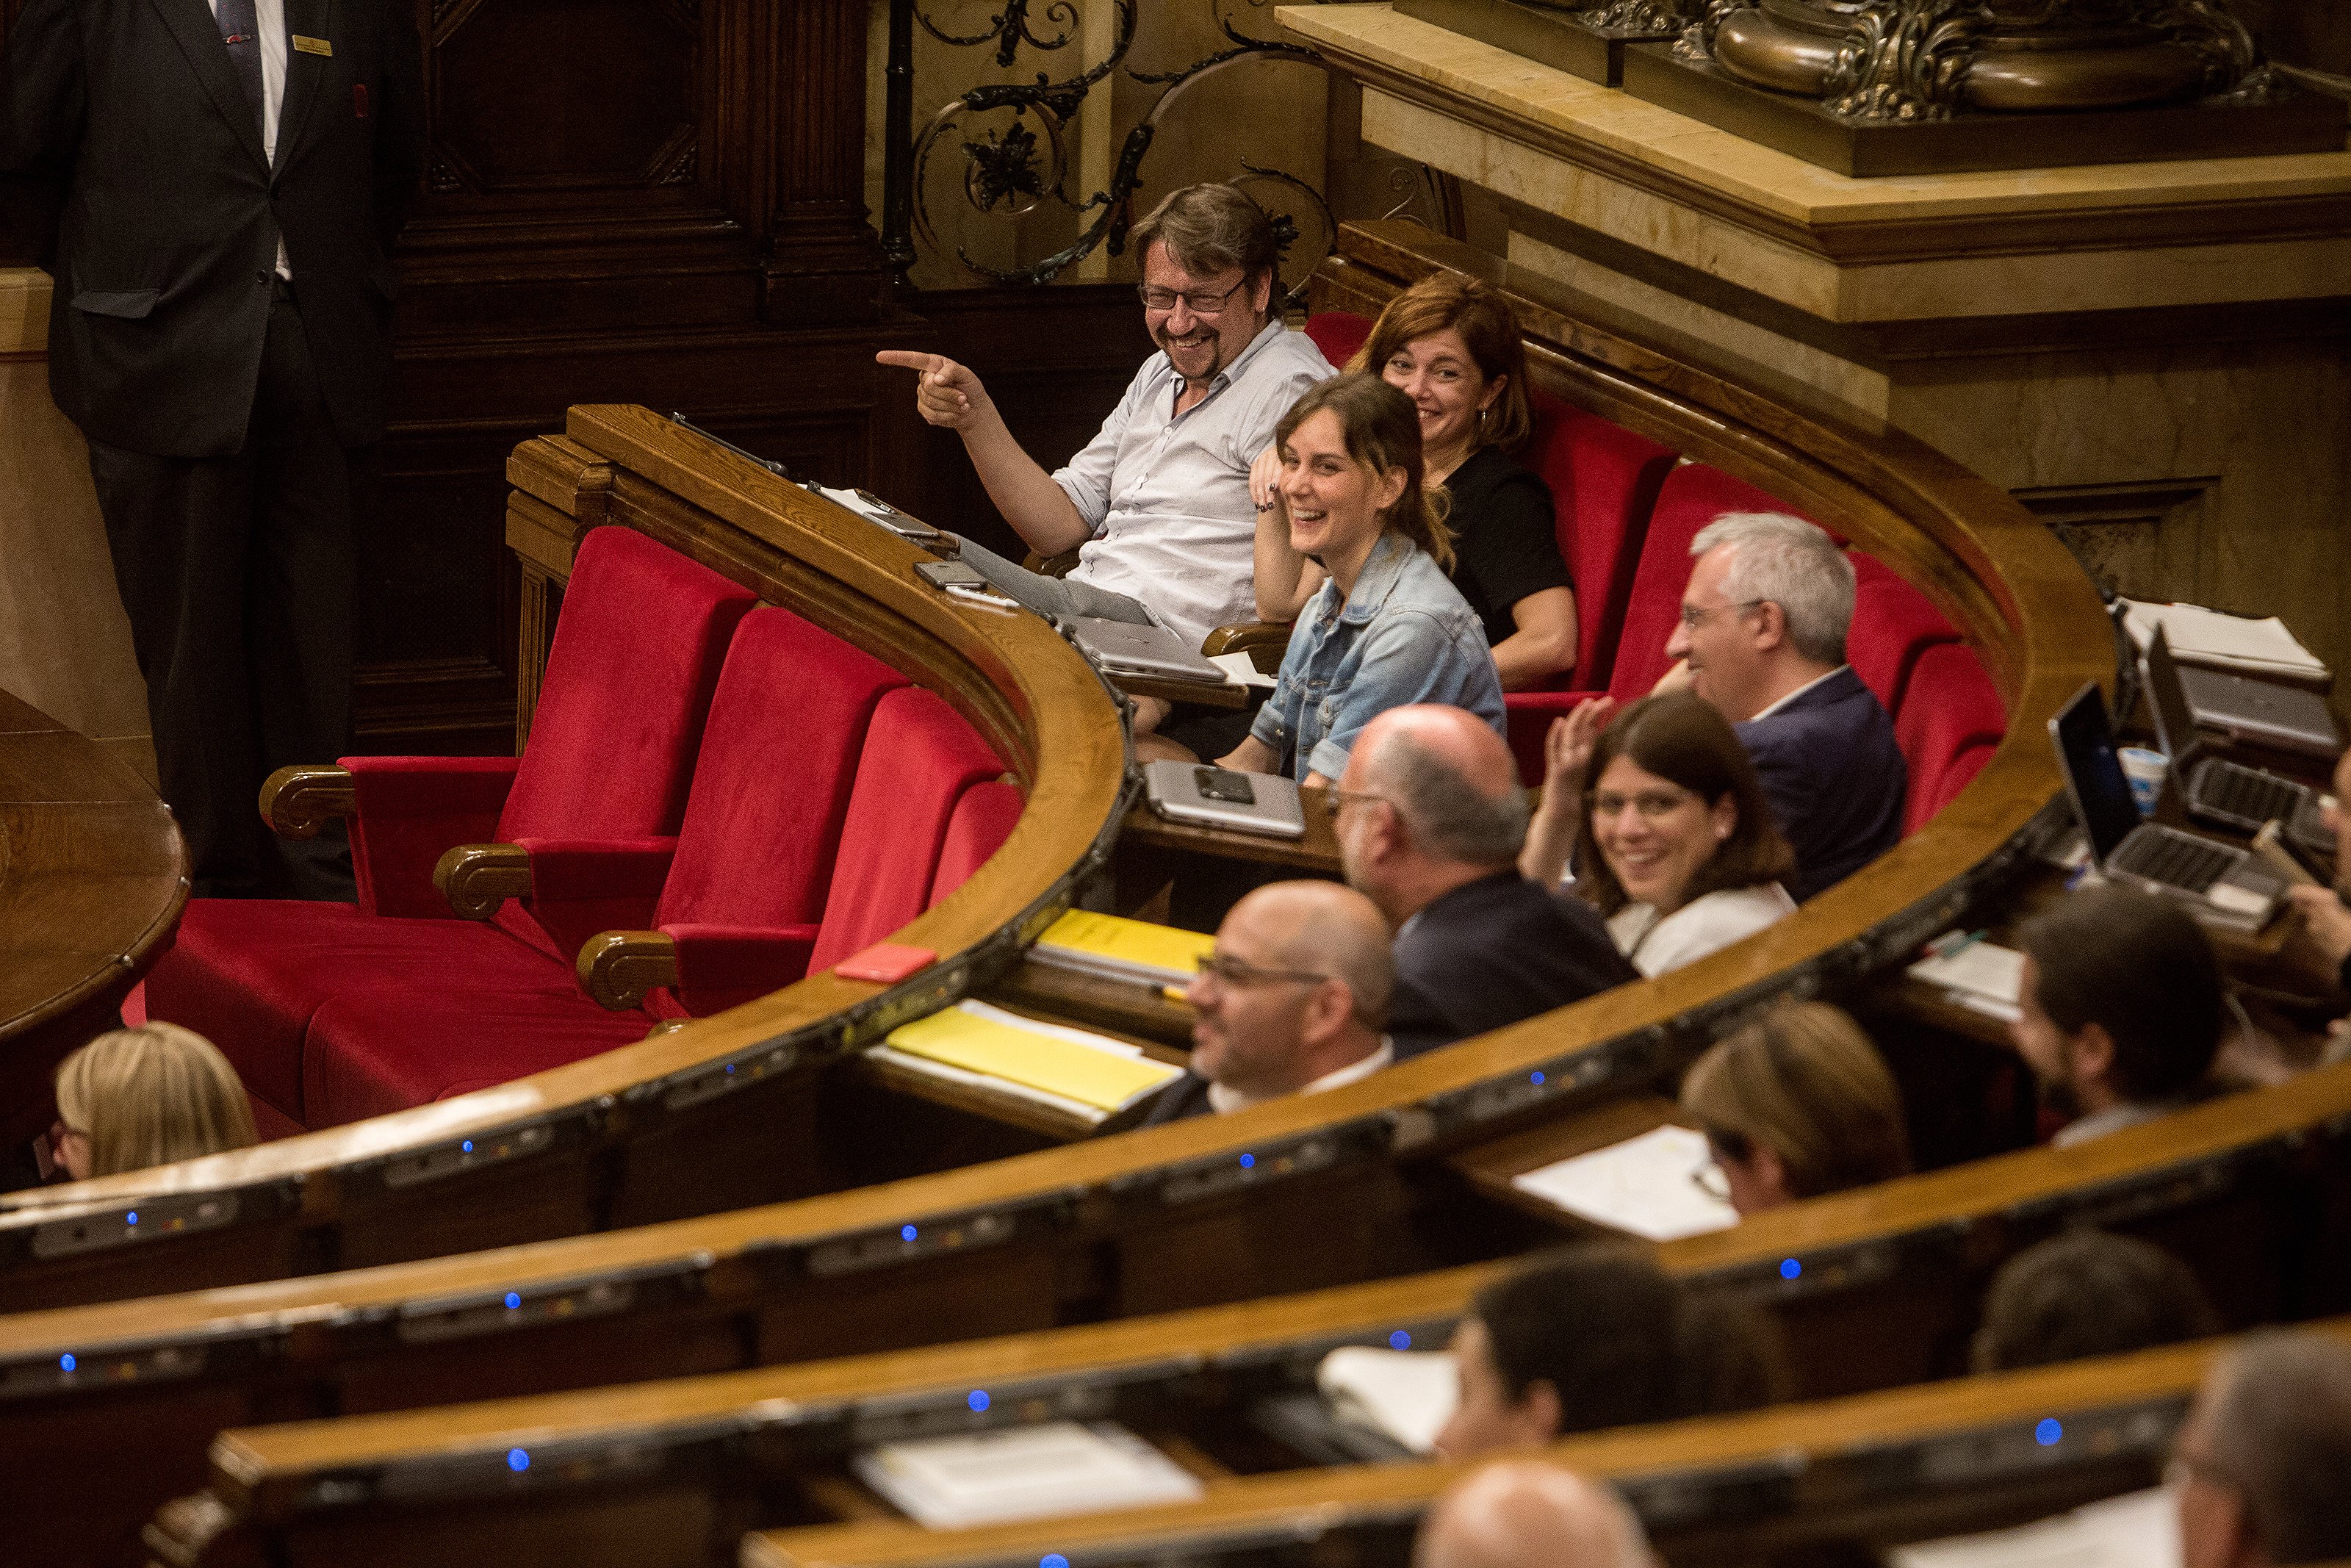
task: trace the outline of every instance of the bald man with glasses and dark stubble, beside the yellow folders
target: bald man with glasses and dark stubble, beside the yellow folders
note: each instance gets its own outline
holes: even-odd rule
[[[1185,999],[1192,1070],[1159,1091],[1145,1126],[1324,1093],[1394,1060],[1387,999],[1396,983],[1387,922],[1335,882],[1255,889],[1215,931]]]

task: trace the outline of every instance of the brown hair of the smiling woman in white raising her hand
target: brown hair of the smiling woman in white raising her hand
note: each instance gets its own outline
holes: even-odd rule
[[[1690,886],[1681,893],[1683,903],[1721,889],[1780,882],[1796,870],[1796,851],[1787,846],[1770,820],[1756,764],[1747,759],[1747,748],[1740,745],[1730,722],[1714,703],[1688,691],[1627,703],[1592,745],[1592,766],[1585,773],[1587,797],[1617,757],[1632,757],[1639,766],[1681,785],[1709,806],[1728,795],[1740,811],[1730,837],[1716,844],[1707,863],[1690,877]],[[1585,799],[1582,825],[1575,830],[1575,891],[1601,914],[1615,914],[1629,903],[1625,884],[1617,882],[1601,856],[1599,839],[1592,837],[1589,799]]]

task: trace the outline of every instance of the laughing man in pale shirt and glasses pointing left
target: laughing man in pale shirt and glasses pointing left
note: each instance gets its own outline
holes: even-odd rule
[[[915,407],[964,437],[990,501],[1032,550],[1079,550],[1067,578],[1046,578],[966,541],[980,576],[1044,616],[1159,623],[1199,646],[1218,625],[1258,618],[1248,463],[1331,362],[1274,313],[1274,228],[1232,186],[1168,195],[1133,240],[1159,353],[1060,473],[1020,449],[969,367],[875,357],[922,371]]]

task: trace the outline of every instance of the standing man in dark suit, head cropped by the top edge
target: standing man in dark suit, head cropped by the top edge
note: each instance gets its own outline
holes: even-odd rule
[[[348,748],[421,99],[404,0],[31,0],[0,61],[0,188],[197,893],[348,889],[331,844],[275,867],[254,797]]]

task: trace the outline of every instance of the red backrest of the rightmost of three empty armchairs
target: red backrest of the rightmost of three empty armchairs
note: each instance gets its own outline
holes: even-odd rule
[[[900,686],[875,705],[809,973],[922,914],[955,804],[1002,771],[978,731],[936,691]]]

